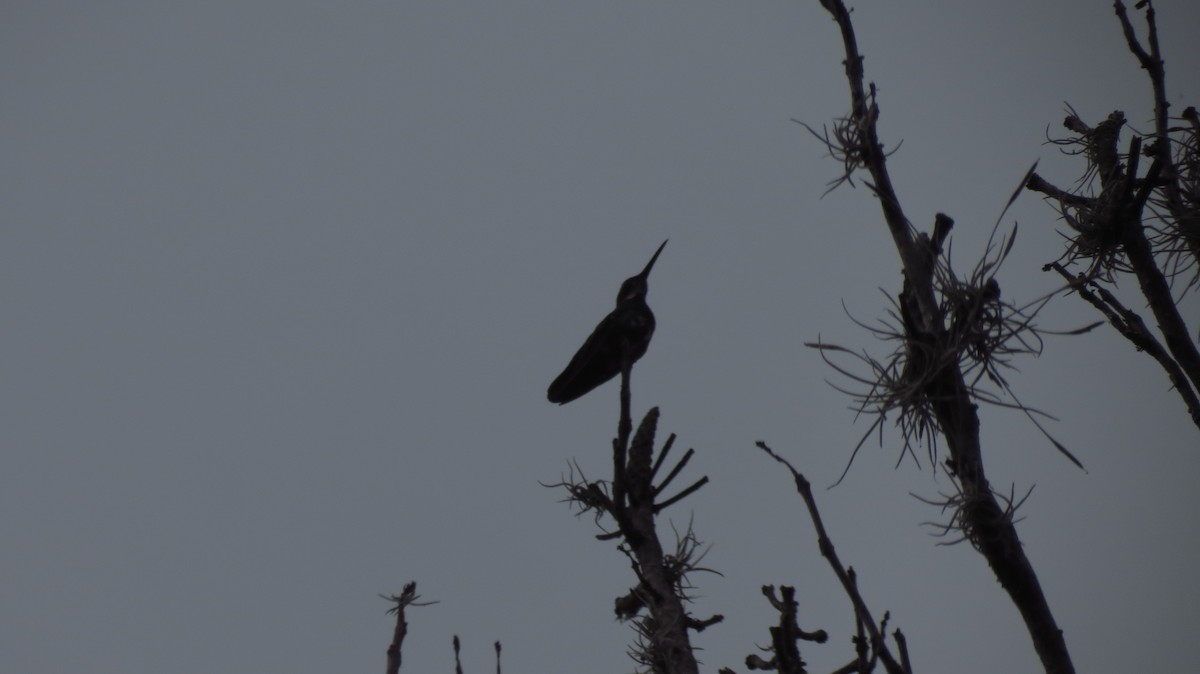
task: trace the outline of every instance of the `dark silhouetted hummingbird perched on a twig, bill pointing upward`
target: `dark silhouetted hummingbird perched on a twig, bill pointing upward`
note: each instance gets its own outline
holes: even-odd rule
[[[632,366],[646,354],[654,335],[654,313],[646,303],[647,278],[666,245],[664,241],[654,251],[654,257],[641,273],[620,284],[617,308],[604,317],[566,369],[551,383],[546,391],[550,402],[566,404],[617,377],[622,367]]]

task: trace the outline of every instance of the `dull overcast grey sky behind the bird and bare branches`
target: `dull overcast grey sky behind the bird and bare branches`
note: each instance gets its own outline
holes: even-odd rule
[[[1002,6],[1003,5],[1003,6]],[[1157,2],[1176,110],[1200,102],[1198,10]],[[1148,127],[1108,1],[859,2],[906,211],[956,218],[967,264],[1064,101]],[[665,237],[638,410],[713,482],[677,506],[714,544],[708,670],[767,643],[764,583],[799,588],[815,672],[851,656],[835,588],[767,440],[816,485],[866,429],[804,341],[899,289],[866,189],[791,118],[847,109],[812,2],[25,2],[0,10],[0,670],[372,672],[379,592],[415,579],[406,670],[620,672],[634,583],[556,481],[608,465],[617,386],[550,380]],[[1190,67],[1190,71],[1188,70]],[[1024,195],[1006,296],[1055,287],[1055,215]],[[1192,302],[1195,307],[1195,302]],[[1042,324],[1093,317],[1056,300]],[[1193,312],[1190,315],[1198,315]],[[1200,441],[1110,330],[1013,378],[1087,465],[983,416],[994,485],[1037,485],[1021,535],[1081,672],[1186,670],[1200,628]],[[820,492],[864,595],[922,672],[1037,668],[982,558],[937,547],[869,443]],[[922,457],[924,458],[924,457]],[[666,522],[662,523],[664,529]]]

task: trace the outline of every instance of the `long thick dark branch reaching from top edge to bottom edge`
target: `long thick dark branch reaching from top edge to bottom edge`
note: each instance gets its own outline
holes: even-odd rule
[[[836,22],[845,48],[844,64],[851,108],[850,114],[838,124],[852,131],[844,136],[853,139],[854,145],[842,148],[842,155],[858,157],[858,166],[870,174],[868,186],[880,199],[883,219],[904,270],[905,288],[900,294],[899,306],[904,318],[904,338],[908,347],[905,367],[914,369],[911,369],[908,377],[901,377],[901,380],[916,385],[913,393],[919,399],[919,405],[930,411],[930,428],[936,428],[946,440],[952,475],[966,503],[972,504],[970,512],[964,513],[970,522],[972,542],[988,560],[1025,620],[1045,672],[1073,673],[1074,666],[1066,640],[1050,612],[1033,566],[1025,554],[1016,529],[1004,517],[1006,508],[988,483],[979,445],[977,396],[972,395],[972,384],[964,372],[960,361],[962,353],[955,347],[970,342],[960,339],[961,335],[970,335],[970,331],[959,329],[967,325],[960,323],[960,315],[966,320],[974,320],[977,326],[982,325],[980,320],[990,320],[985,311],[986,307],[995,306],[991,297],[998,299],[998,284],[972,285],[970,295],[976,299],[967,303],[965,314],[956,315],[953,303],[937,301],[938,289],[944,291],[949,288],[938,285],[940,282],[944,283],[944,278],[940,281],[937,277],[940,246],[932,242],[944,239],[944,233],[940,234],[940,228],[935,225],[932,237],[918,236],[905,217],[888,174],[887,155],[878,139],[876,121],[880,107],[875,88],[864,85],[863,56],[858,52],[850,11],[841,0],[821,0],[821,5]],[[989,278],[991,275],[985,270],[979,276]],[[984,309],[984,313],[976,309]],[[1027,325],[1028,321],[1024,324]],[[1061,445],[1056,446],[1063,450]],[[877,630],[874,625],[872,628]],[[878,638],[872,634],[872,639]],[[899,670],[899,664],[896,668]]]

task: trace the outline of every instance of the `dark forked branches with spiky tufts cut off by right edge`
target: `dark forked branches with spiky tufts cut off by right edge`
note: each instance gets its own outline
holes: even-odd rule
[[[1200,282],[1200,115],[1194,107],[1181,118],[1170,115],[1154,7],[1148,0],[1136,5],[1145,10],[1147,47],[1124,5],[1114,6],[1129,50],[1150,77],[1154,127],[1133,132],[1122,152],[1124,113],[1116,110],[1093,127],[1070,110],[1063,121],[1070,136],[1054,143],[1084,158],[1082,176],[1068,191],[1033,174],[1027,187],[1045,194],[1069,228],[1066,252],[1046,269],[1158,362],[1200,427],[1200,350],[1192,337],[1195,326],[1188,327],[1178,305]],[[1150,161],[1144,173],[1142,157]],[[1157,331],[1117,299],[1117,282],[1130,275]]]

